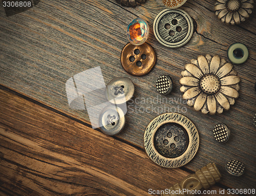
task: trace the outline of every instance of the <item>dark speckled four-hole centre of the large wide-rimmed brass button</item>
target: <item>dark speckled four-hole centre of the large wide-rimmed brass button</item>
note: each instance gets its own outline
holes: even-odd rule
[[[177,123],[166,123],[157,129],[154,136],[154,146],[158,153],[164,157],[179,157],[188,146],[187,132]]]

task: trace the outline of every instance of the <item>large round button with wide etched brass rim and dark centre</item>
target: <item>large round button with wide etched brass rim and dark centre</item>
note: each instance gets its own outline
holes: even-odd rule
[[[187,164],[196,155],[199,135],[188,118],[166,113],[147,125],[144,146],[152,161],[163,167],[176,168]]]

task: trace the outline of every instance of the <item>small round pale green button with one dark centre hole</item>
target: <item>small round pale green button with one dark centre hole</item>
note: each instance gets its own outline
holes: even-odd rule
[[[248,56],[248,48],[243,43],[233,43],[227,50],[227,57],[234,64],[244,63]]]

